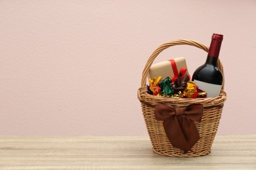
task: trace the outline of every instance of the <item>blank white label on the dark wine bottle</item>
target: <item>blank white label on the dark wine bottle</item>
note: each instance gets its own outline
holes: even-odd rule
[[[219,96],[219,93],[221,93],[222,85],[202,82],[196,79],[194,82],[196,83],[196,86],[198,86],[201,90],[207,92],[207,97],[217,97]]]

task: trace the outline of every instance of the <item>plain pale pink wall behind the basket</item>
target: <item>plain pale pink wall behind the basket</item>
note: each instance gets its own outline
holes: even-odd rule
[[[0,135],[147,135],[137,89],[164,42],[224,35],[219,135],[255,134],[256,1],[0,1]],[[190,73],[206,53],[175,46]]]

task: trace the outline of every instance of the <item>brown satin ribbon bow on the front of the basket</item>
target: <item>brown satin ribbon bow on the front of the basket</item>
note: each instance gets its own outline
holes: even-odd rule
[[[201,122],[203,105],[192,104],[186,108],[174,108],[158,103],[154,111],[156,120],[163,121],[163,127],[170,143],[181,148],[184,153],[192,151],[192,146],[200,139],[196,122]]]

